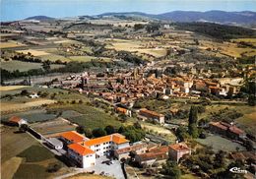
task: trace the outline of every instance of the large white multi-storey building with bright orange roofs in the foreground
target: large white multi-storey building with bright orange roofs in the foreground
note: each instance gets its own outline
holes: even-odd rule
[[[88,139],[76,131],[59,135],[68,151],[68,157],[78,166],[86,168],[96,164],[96,157],[108,155],[111,150],[129,148],[129,141],[124,136],[115,133],[95,139]]]

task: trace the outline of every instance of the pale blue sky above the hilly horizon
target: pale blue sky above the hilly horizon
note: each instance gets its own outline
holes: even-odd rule
[[[0,21],[32,16],[53,18],[98,15],[107,12],[161,14],[170,11],[254,11],[256,0],[0,0]]]

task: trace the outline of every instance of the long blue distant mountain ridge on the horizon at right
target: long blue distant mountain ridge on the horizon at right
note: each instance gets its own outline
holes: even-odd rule
[[[148,17],[172,22],[211,22],[220,24],[251,25],[256,24],[256,12],[225,12],[225,11],[173,11],[159,15],[140,12],[127,13],[104,13],[98,16],[127,16],[127,17]]]

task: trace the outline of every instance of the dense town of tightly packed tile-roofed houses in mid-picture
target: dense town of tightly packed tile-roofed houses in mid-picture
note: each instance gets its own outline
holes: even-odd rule
[[[132,105],[142,97],[160,94],[161,96],[195,96],[201,91],[215,95],[235,94],[240,89],[241,79],[197,79],[178,76],[175,78],[163,74],[147,77],[146,68],[135,68],[133,72],[109,72],[105,74],[85,73],[77,89],[81,92],[93,92],[110,102]],[[76,88],[75,88],[76,89]]]

